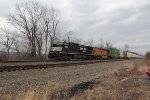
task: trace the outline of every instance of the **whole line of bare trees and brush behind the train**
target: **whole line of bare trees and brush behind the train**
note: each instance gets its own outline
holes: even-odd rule
[[[21,2],[15,5],[15,12],[8,16],[9,27],[1,28],[1,47],[4,47],[5,60],[10,51],[15,51],[18,58],[28,60],[47,59],[49,47],[54,42],[67,41],[83,43],[81,39],[66,32],[63,36],[59,30],[59,16],[54,7],[47,7],[36,1]],[[83,44],[93,46],[94,40]],[[109,48],[111,42],[100,39],[99,48]]]

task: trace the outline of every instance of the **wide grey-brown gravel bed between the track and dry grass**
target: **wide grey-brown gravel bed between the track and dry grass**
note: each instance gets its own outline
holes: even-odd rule
[[[114,69],[123,68],[125,64],[133,64],[137,61],[125,60],[47,69],[1,72],[0,100],[8,97],[13,99],[17,98],[18,100],[27,98],[22,95],[28,95],[29,90],[32,91],[29,94],[34,94],[34,97],[36,94],[44,98],[41,93],[49,95],[52,91],[58,91],[62,88],[71,87],[96,78],[107,77]],[[36,93],[33,91],[36,91]]]

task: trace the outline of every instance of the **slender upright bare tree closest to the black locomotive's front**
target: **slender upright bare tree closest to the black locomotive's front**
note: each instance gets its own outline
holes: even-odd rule
[[[45,41],[45,58],[47,57],[48,41],[52,45],[58,40],[58,16],[56,10],[52,7],[51,9],[44,7],[44,16],[42,17],[42,31],[44,33]]]

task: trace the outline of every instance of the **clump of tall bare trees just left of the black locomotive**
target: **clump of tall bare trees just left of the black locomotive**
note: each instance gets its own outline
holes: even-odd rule
[[[36,59],[37,54],[42,58],[42,50],[47,57],[48,46],[59,40],[58,15],[56,9],[42,6],[35,1],[27,1],[16,4],[16,12],[10,14],[8,21],[20,35],[24,36],[27,45],[23,48],[31,58]],[[14,50],[20,52],[18,40],[15,39]]]

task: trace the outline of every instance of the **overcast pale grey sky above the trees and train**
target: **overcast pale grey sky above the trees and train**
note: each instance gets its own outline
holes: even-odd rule
[[[0,27],[19,0],[0,1]],[[34,0],[59,10],[64,30],[84,40],[100,38],[115,47],[150,51],[150,0]]]

